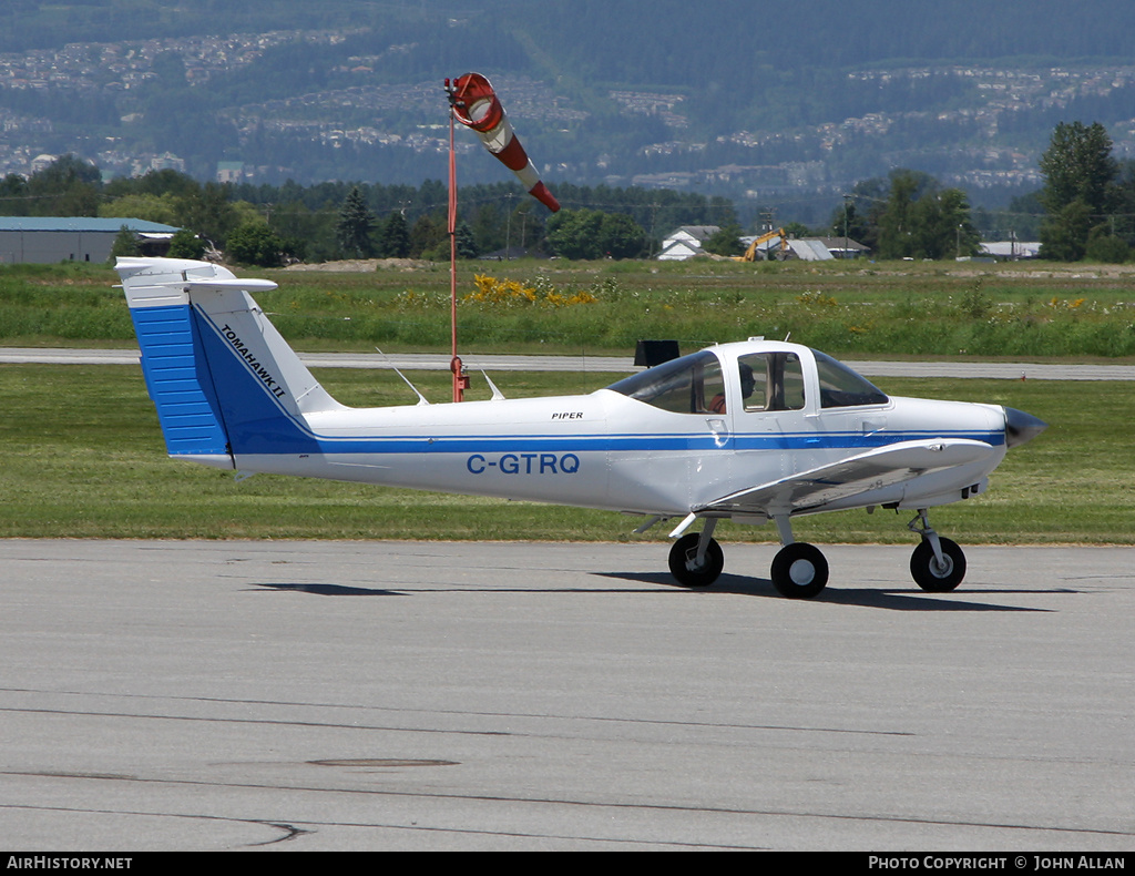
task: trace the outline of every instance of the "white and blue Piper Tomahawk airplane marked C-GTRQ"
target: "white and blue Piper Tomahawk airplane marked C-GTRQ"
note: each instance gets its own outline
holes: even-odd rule
[[[771,578],[791,599],[827,583],[796,517],[908,509],[910,573],[956,589],[961,549],[928,509],[984,493],[1010,448],[1046,428],[997,404],[890,397],[806,345],[749,339],[671,359],[589,394],[352,408],[328,394],[253,300],[276,289],[204,261],[119,258],[141,365],[170,457],[299,475],[598,508],[679,520],[687,587],[724,567],[720,520],[776,526]],[[491,381],[489,381],[490,386]],[[698,532],[691,527],[701,522]]]

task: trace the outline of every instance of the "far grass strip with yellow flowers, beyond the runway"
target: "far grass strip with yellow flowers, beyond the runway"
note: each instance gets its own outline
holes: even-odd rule
[[[260,303],[300,349],[448,349],[447,266],[241,273],[279,283]],[[478,274],[502,293],[478,294]],[[115,282],[98,266],[0,267],[0,343],[132,342]],[[791,334],[851,357],[1135,359],[1133,282],[1135,266],[466,262],[460,339],[465,352],[625,354],[642,337],[693,350]]]

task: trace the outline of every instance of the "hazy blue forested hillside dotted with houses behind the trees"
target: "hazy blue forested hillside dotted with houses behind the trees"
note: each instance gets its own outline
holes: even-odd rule
[[[333,1],[318,19],[293,2],[220,14],[154,0],[115,28],[118,0],[20,2],[0,11],[0,175],[69,152],[107,176],[418,185],[444,178],[443,81],[470,68],[494,80],[549,183],[723,195],[748,220],[822,222],[896,167],[1001,207],[1039,186],[1046,139],[1071,118],[1135,155],[1135,65],[1116,37],[1135,25],[1129,3],[1057,20],[1040,14],[1048,0],[1029,16],[1016,0],[951,0],[901,36],[907,6],[875,0],[836,27],[821,0],[739,28],[750,7],[725,0],[678,40],[670,0],[645,17],[586,0],[570,16],[513,0]],[[496,173],[462,165],[464,182]]]

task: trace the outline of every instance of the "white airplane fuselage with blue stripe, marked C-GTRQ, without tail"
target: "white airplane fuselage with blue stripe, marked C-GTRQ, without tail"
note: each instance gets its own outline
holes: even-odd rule
[[[683,517],[737,484],[790,477],[871,447],[914,436],[998,442],[980,461],[824,509],[940,504],[984,484],[1006,449],[1000,408],[906,398],[825,411],[823,419],[807,409],[699,416],[655,410],[604,389],[588,395],[320,411],[308,415],[306,423],[313,437],[306,450],[237,452],[232,461],[218,461],[249,473]]]

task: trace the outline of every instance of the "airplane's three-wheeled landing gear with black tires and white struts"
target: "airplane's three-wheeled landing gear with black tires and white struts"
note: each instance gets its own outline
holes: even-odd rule
[[[788,599],[812,599],[827,585],[827,560],[814,544],[792,539],[788,516],[775,516],[783,547],[773,557],[770,573],[776,592]],[[686,587],[708,587],[721,575],[725,558],[713,532],[717,520],[706,518],[700,533],[687,533],[670,550],[670,572]],[[926,509],[918,509],[907,528],[922,536],[910,554],[910,576],[925,591],[953,590],[966,575],[966,554],[955,542],[934,532]]]

